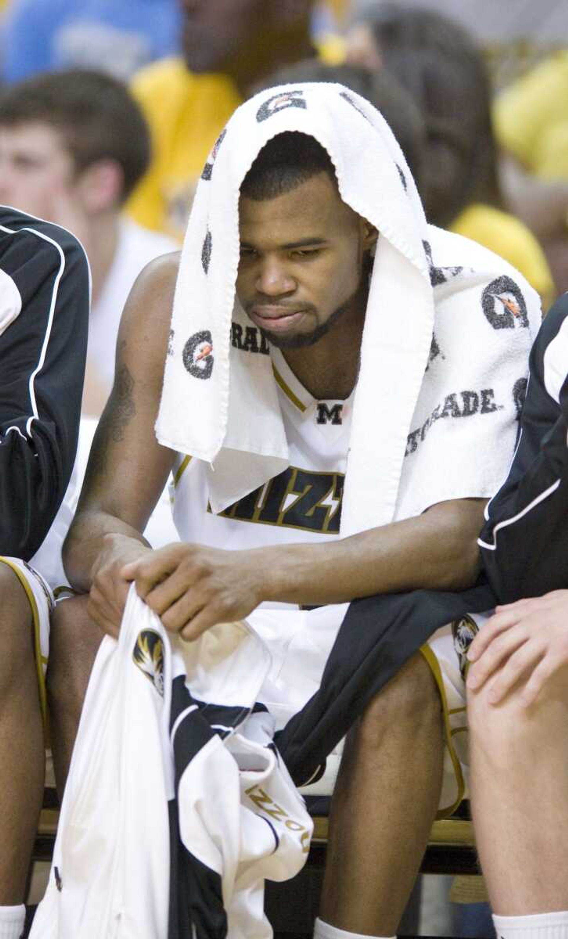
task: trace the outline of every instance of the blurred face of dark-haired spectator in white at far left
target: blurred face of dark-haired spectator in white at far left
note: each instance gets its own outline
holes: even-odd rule
[[[75,168],[61,134],[39,121],[0,126],[0,202],[39,218],[73,187]]]

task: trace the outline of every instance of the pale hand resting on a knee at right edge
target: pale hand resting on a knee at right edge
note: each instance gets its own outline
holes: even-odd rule
[[[553,676],[568,679],[568,590],[497,607],[469,646],[468,687],[498,704],[520,688],[529,707]]]

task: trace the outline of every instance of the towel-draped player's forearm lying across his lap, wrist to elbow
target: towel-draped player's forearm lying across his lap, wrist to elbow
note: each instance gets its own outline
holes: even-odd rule
[[[343,603],[375,593],[465,590],[479,572],[483,502],[434,506],[422,516],[323,545],[264,549],[264,599]]]

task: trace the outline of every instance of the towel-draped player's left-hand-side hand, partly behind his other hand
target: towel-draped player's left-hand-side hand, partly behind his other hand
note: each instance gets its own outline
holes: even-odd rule
[[[91,570],[91,589],[87,601],[89,616],[109,636],[118,636],[130,581],[122,576],[122,569],[152,549],[135,538],[122,534],[108,534],[104,546]]]

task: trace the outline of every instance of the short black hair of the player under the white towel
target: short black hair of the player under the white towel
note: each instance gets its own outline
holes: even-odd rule
[[[240,193],[256,202],[275,199],[318,173],[327,173],[337,186],[325,147],[307,133],[284,131],[262,147],[241,183]]]

